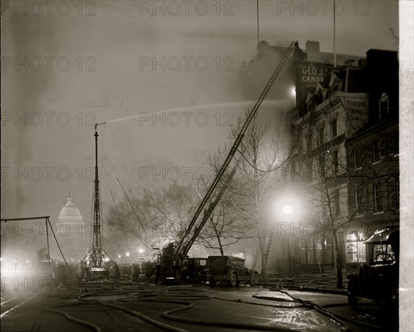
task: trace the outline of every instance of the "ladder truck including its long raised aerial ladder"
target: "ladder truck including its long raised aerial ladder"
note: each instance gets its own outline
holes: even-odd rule
[[[228,169],[228,166],[230,165],[230,162],[233,160],[233,157],[235,156],[235,153],[237,152],[237,148],[239,148],[239,145],[242,143],[244,134],[246,133],[246,130],[248,126],[250,125],[251,121],[257,114],[257,110],[259,110],[259,107],[261,106],[262,101],[266,97],[270,88],[273,86],[273,83],[275,83],[275,80],[277,76],[279,75],[279,73],[281,72],[284,64],[286,64],[290,56],[293,54],[293,50],[298,48],[298,46],[299,46],[299,43],[297,43],[297,41],[292,41],[292,43],[290,43],[290,46],[288,50],[286,50],[286,54],[284,55],[285,61],[282,61],[282,64],[277,66],[277,68],[273,72],[273,75],[270,77],[270,79],[268,80],[268,83],[266,84],[264,90],[262,91],[262,94],[259,96],[259,99],[257,99],[255,106],[253,106],[253,108],[248,113],[246,117],[246,121],[244,122],[241,130],[239,131],[239,134],[237,135],[235,142],[233,143],[233,146],[230,148],[230,151],[226,159],[224,160],[223,165],[221,165],[221,168],[219,169],[219,172],[217,173],[213,182],[210,184],[210,187],[208,188],[206,195],[204,195],[199,206],[197,207],[197,210],[195,211],[193,218],[190,221],[190,224],[188,224],[188,228],[186,229],[186,232],[184,233],[182,240],[177,244],[175,248],[173,248],[172,246],[169,248],[170,250],[173,251],[172,255],[168,255],[169,257],[166,258],[166,257],[163,257],[161,253],[159,254],[159,259],[157,262],[156,273],[155,273],[156,284],[158,281],[163,282],[167,278],[175,278],[175,280],[178,282],[181,279],[182,275],[184,274],[183,272],[186,266],[188,251],[190,250],[191,246],[193,246],[195,240],[197,239],[199,233],[201,232],[204,225],[206,224],[211,213],[213,213],[221,197],[224,195],[227,189],[226,184],[231,182],[231,180],[233,179],[236,173],[237,164],[232,170],[230,170],[228,179],[226,179],[226,184],[221,186],[221,188],[219,189],[217,189],[217,186],[221,182],[224,176],[224,173],[226,172],[226,170]],[[215,196],[213,196],[214,193],[215,193]],[[207,205],[208,202],[210,203]],[[201,213],[202,213],[202,217],[199,219]]]

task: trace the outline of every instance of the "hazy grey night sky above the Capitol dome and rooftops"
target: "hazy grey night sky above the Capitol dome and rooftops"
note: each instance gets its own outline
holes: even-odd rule
[[[59,8],[5,2],[2,218],[56,220],[70,191],[89,221],[96,122],[107,122],[98,127],[103,166],[121,199],[115,174],[136,195],[172,184],[172,167],[185,183],[186,172],[230,143],[230,125],[251,104],[238,69],[256,54],[256,1],[167,1],[165,12],[152,11],[164,1],[66,1]],[[285,47],[297,39],[302,48],[315,40],[333,52],[333,1],[311,2],[318,7],[296,1],[291,12],[292,1],[259,1],[260,39]],[[397,1],[337,2],[337,52],[398,50]],[[164,170],[165,180],[155,174]],[[106,174],[100,168],[104,215],[112,204]]]

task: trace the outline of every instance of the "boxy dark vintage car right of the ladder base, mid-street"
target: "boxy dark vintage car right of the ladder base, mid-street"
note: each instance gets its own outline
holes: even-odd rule
[[[256,285],[259,273],[244,266],[244,259],[233,256],[208,256],[207,266],[210,271],[208,283],[214,287],[217,282],[226,283],[232,287],[240,282]]]

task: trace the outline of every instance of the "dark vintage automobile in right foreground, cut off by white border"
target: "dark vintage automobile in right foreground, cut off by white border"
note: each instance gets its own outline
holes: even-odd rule
[[[359,273],[346,275],[348,304],[355,309],[359,298],[374,300],[387,308],[398,304],[398,263],[400,258],[400,230],[387,229],[365,242],[366,263]]]

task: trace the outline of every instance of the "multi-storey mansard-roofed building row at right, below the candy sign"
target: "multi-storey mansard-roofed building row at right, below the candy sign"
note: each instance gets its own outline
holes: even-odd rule
[[[364,240],[399,222],[397,53],[332,68],[298,109],[290,174],[319,213],[293,255],[302,271],[357,267]]]

